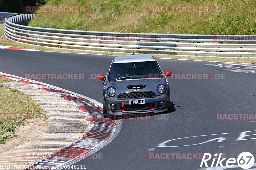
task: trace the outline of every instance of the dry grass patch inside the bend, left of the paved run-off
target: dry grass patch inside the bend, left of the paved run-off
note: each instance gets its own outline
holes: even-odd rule
[[[7,81],[10,79],[0,77],[0,82]],[[17,137],[6,133],[25,125],[27,118],[45,118],[44,110],[28,95],[4,85],[0,85],[0,94],[0,144]]]

